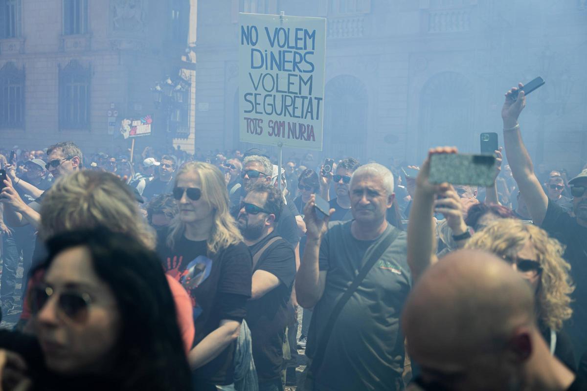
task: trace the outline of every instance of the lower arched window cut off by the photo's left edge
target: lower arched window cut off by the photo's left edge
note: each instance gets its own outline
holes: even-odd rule
[[[24,108],[25,70],[6,63],[0,69],[0,128],[24,128]]]

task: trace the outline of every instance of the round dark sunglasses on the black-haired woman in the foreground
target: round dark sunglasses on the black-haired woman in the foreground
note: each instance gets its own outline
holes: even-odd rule
[[[38,314],[53,294],[55,291],[51,287],[32,288],[30,299],[32,313]],[[92,304],[90,295],[77,291],[63,291],[57,300],[58,311],[77,323],[86,321],[90,304]]]

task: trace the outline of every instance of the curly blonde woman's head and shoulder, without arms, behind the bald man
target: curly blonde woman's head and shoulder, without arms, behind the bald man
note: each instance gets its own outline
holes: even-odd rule
[[[564,247],[545,230],[517,219],[498,219],[468,240],[465,249],[485,250],[510,263],[535,292],[538,325],[551,353],[576,372],[571,342],[561,334],[571,318],[571,266]]]

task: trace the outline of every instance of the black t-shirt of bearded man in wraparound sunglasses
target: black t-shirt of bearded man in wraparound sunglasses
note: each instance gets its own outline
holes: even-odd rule
[[[251,254],[257,253],[276,236],[271,233],[261,242],[249,246]],[[247,304],[247,324],[251,329],[257,375],[259,382],[268,382],[281,378],[287,304],[296,273],[294,250],[284,239],[276,240],[264,251],[253,273],[257,270],[268,271],[279,278],[278,287]]]

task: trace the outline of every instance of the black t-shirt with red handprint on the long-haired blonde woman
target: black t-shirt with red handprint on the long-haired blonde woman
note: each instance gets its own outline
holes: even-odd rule
[[[190,295],[194,308],[194,346],[220,326],[222,319],[241,321],[251,297],[252,259],[244,243],[234,244],[215,256],[207,254],[206,241],[181,237],[170,249],[161,233],[157,252],[168,276]],[[193,372],[195,385],[229,385],[233,382],[234,348],[231,344],[217,358]]]

